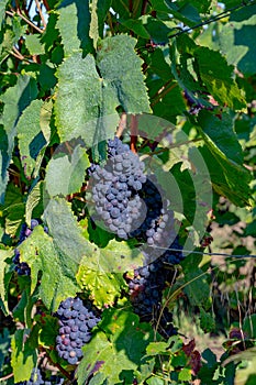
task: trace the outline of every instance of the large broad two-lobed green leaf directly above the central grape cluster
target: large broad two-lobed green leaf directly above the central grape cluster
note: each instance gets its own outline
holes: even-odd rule
[[[97,56],[101,77],[91,55],[76,53],[59,66],[55,117],[63,142],[81,136],[91,146],[112,136],[119,106],[132,113],[149,111],[134,46],[135,40],[126,35],[103,40]]]

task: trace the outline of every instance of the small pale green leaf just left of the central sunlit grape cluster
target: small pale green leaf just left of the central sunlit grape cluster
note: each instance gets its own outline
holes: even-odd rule
[[[57,153],[46,169],[45,186],[51,197],[78,193],[90,166],[86,150],[77,145],[71,155]]]

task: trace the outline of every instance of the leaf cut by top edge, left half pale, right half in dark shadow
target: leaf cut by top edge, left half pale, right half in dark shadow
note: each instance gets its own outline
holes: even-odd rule
[[[84,51],[84,54],[93,51],[89,36],[90,10],[88,0],[63,0],[57,9],[59,14],[57,29],[60,32],[65,56],[74,52]]]

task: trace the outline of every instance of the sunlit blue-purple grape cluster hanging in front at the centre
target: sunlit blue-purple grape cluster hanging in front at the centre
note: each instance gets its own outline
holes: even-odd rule
[[[94,209],[111,232],[127,239],[142,222],[144,204],[138,191],[146,182],[145,165],[118,138],[108,142],[108,154],[103,168],[98,165],[90,170]]]

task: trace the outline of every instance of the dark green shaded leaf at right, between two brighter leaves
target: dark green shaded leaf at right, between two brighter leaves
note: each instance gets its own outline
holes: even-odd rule
[[[242,146],[234,131],[234,122],[230,113],[223,112],[219,119],[209,111],[202,110],[198,121],[200,133],[204,140],[208,140],[207,143],[213,142],[229,160],[240,165],[243,164]]]

